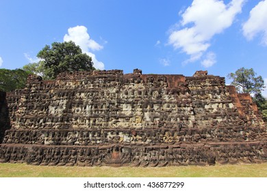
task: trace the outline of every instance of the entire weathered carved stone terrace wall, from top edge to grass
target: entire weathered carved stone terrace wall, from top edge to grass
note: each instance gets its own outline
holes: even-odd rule
[[[251,97],[207,71],[29,76],[25,89],[2,100],[11,128],[0,162],[166,166],[267,159],[266,126]]]

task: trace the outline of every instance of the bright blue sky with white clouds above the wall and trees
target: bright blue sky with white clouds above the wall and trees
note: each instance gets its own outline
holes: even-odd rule
[[[267,0],[0,1],[0,68],[68,40],[100,69],[227,76],[244,66],[267,82]]]

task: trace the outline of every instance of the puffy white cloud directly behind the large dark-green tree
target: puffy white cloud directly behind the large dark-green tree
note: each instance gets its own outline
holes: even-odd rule
[[[94,68],[104,70],[105,65],[103,62],[98,61],[96,55],[91,53],[90,50],[101,50],[103,46],[90,39],[90,35],[87,32],[87,28],[84,26],[71,27],[68,29],[68,34],[64,35],[64,41],[73,41],[75,44],[80,46],[83,53],[86,53],[90,57],[92,57],[92,61],[94,62]]]

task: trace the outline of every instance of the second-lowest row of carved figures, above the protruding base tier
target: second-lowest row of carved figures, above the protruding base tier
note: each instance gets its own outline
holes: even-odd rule
[[[177,130],[7,130],[3,143],[38,145],[99,145],[110,143],[208,143],[267,140],[264,128],[218,128]]]

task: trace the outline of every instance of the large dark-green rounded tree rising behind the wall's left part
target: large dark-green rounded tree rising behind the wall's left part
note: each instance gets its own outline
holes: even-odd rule
[[[54,42],[51,46],[46,45],[37,57],[43,61],[44,76],[51,79],[61,72],[94,70],[92,58],[82,53],[81,48],[74,42]]]

